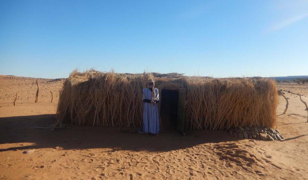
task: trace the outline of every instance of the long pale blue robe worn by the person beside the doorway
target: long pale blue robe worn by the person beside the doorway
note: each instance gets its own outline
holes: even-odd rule
[[[158,89],[155,89],[155,99],[159,101]],[[152,99],[152,92],[147,89],[143,89],[143,98]],[[157,134],[159,132],[159,115],[158,115],[158,104],[153,106],[152,103],[143,102],[143,130],[146,133]]]

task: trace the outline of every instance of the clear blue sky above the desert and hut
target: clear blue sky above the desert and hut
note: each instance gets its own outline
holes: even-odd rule
[[[0,74],[308,75],[308,0],[0,0]]]

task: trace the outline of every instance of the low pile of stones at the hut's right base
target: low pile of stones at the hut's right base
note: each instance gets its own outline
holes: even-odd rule
[[[260,127],[245,127],[237,126],[227,130],[234,138],[246,139],[261,139],[263,141],[274,141],[284,139],[278,130],[273,128],[260,128]]]

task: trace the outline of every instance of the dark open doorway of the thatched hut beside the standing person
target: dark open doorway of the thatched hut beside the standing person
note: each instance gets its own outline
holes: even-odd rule
[[[160,117],[163,130],[176,131],[178,104],[178,90],[161,90]]]

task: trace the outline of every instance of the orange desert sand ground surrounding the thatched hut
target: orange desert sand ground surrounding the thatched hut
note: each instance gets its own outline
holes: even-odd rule
[[[3,179],[308,179],[307,111],[286,93],[277,129],[283,141],[236,139],[225,131],[159,136],[119,128],[38,129],[55,122],[62,80],[0,76],[0,178]],[[308,102],[308,85],[278,84]],[[51,103],[51,93],[53,102]],[[13,106],[17,94],[16,106]]]

